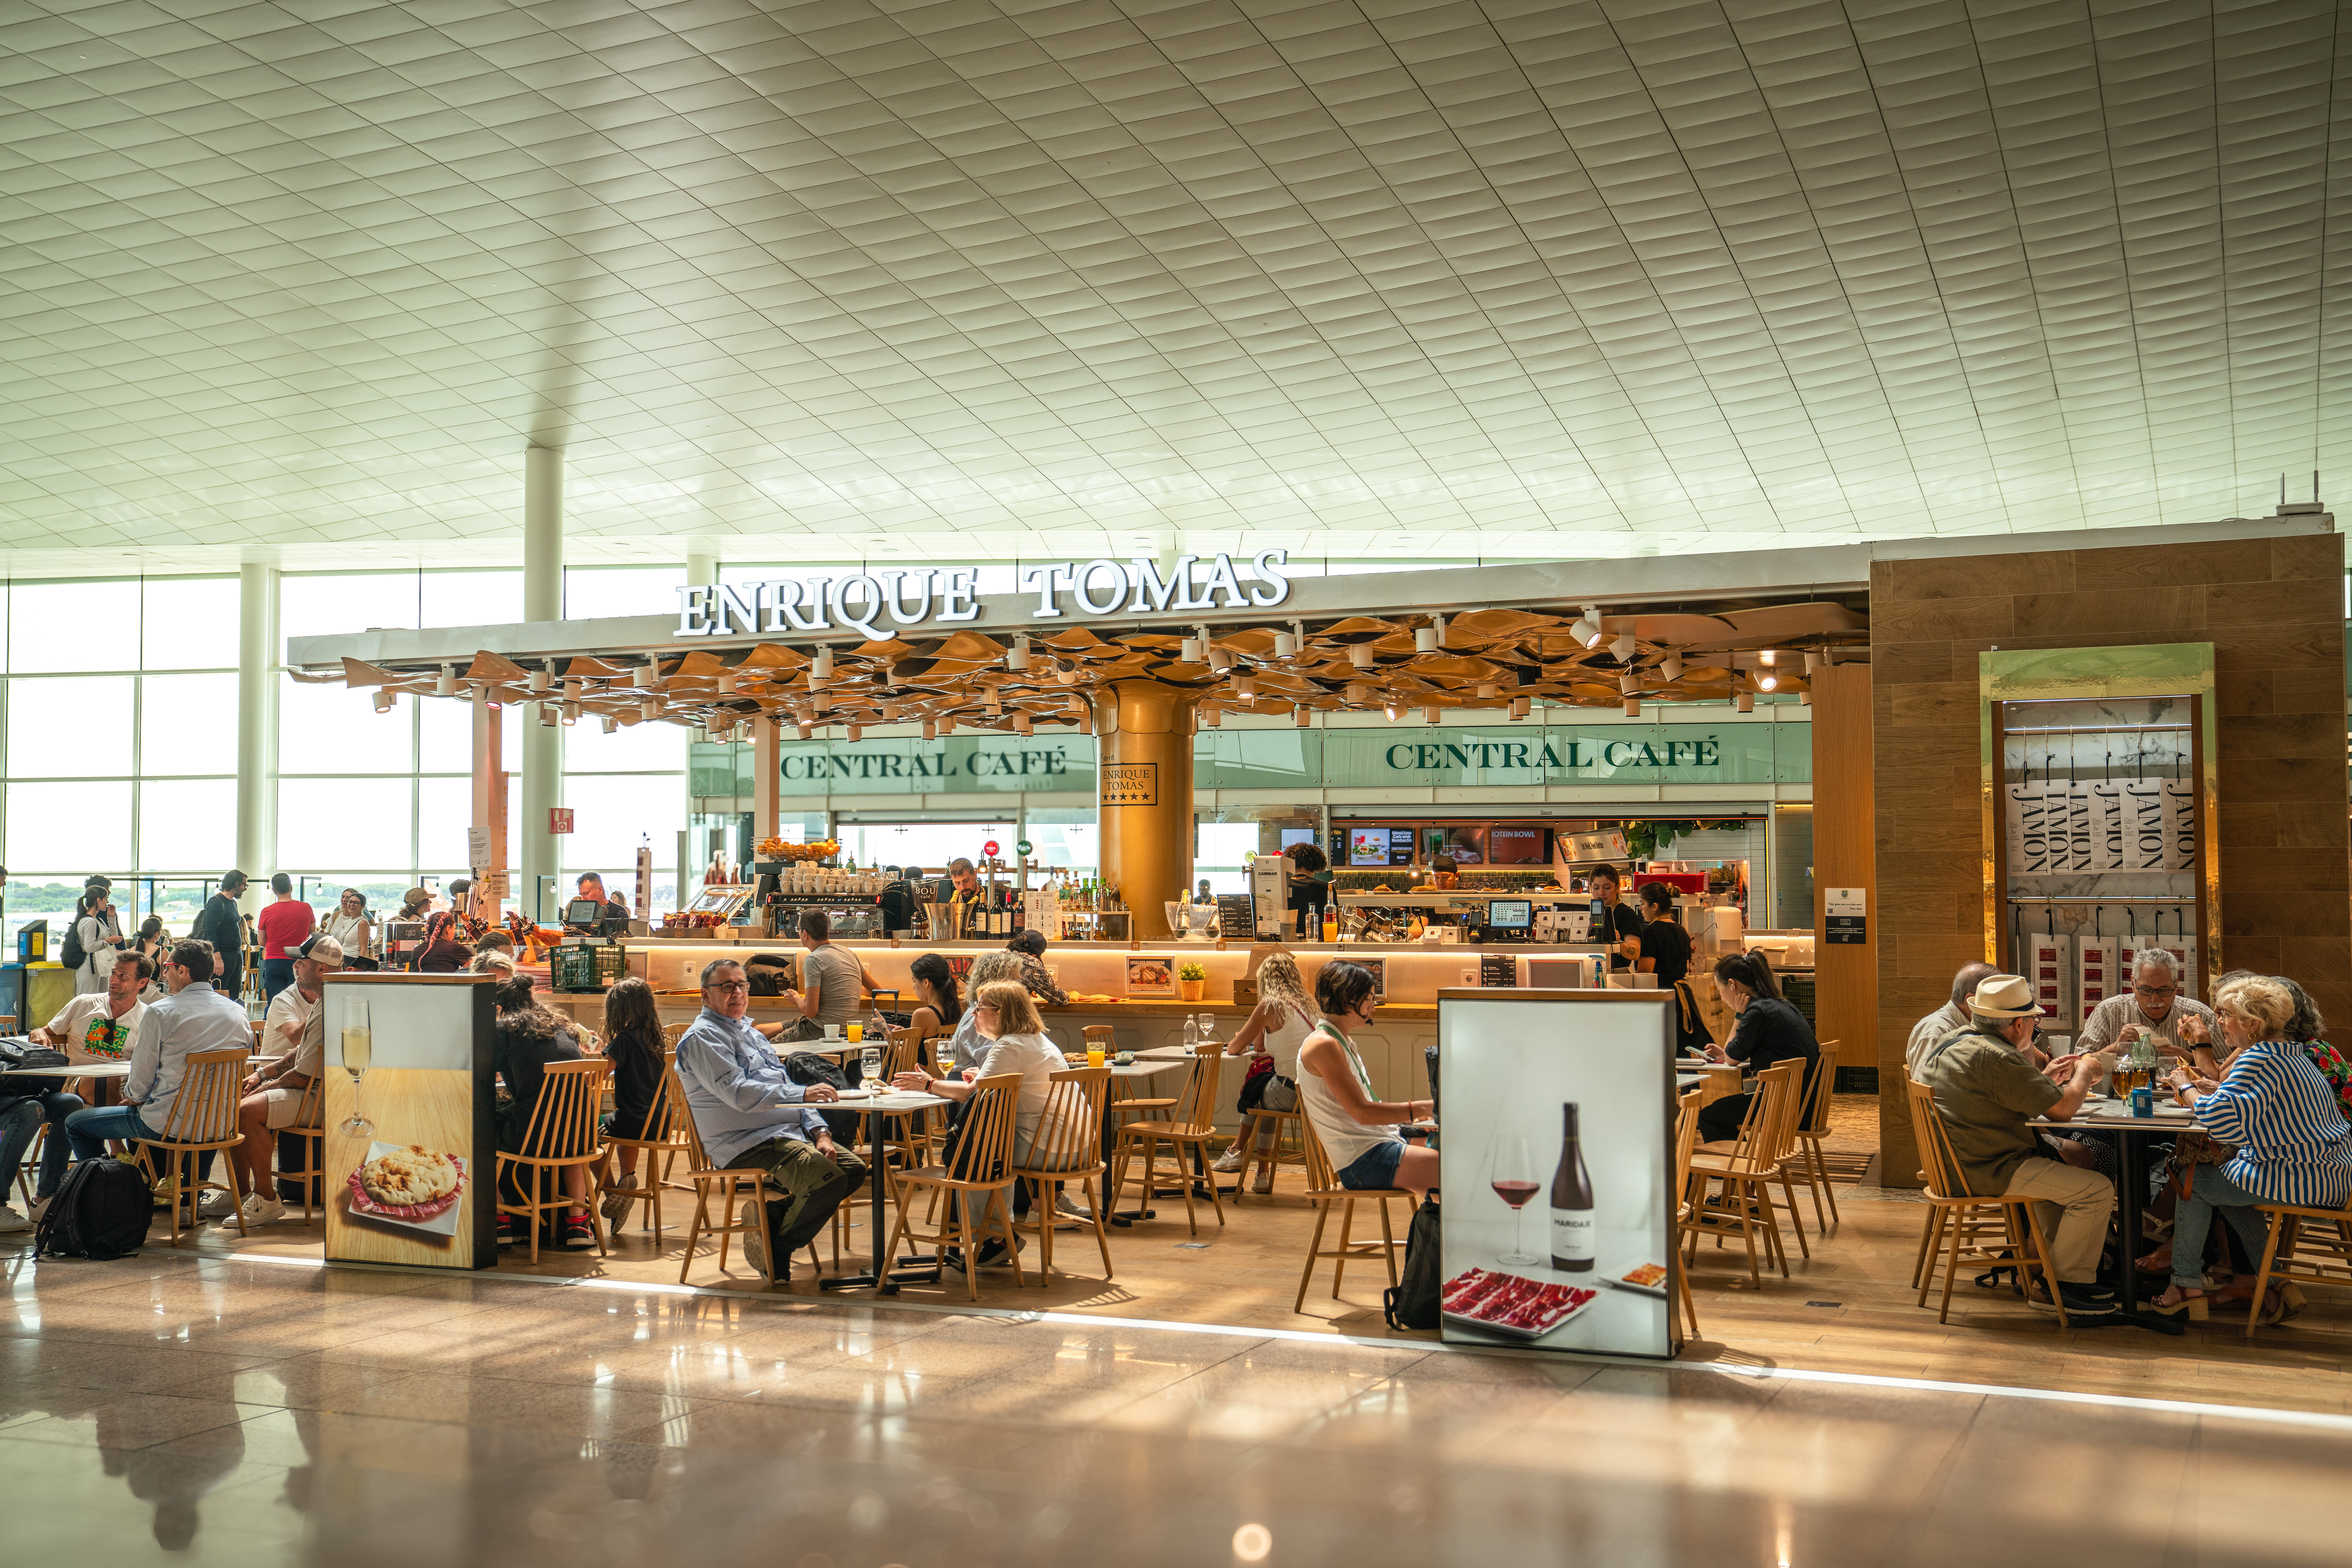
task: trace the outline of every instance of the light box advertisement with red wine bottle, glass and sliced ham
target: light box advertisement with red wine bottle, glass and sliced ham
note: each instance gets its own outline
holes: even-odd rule
[[[1437,994],[1444,1338],[1672,1356],[1672,992]]]

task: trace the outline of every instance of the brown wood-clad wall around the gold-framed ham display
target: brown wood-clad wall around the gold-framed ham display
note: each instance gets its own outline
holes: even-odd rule
[[[1889,1185],[1912,1185],[1919,1168],[1903,1044],[1945,1004],[1952,971],[1985,954],[1976,715],[1985,649],[2213,644],[2223,964],[2288,973],[2324,1013],[2352,1020],[2345,545],[2336,534],[2263,538],[2258,527],[2176,548],[1872,567],[1872,936]],[[1825,827],[1816,811],[1816,835]],[[1846,1060],[1865,1060],[1853,1041]]]

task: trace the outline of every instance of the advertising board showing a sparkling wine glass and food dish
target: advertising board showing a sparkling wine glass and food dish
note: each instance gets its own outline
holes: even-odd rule
[[[496,1244],[489,976],[327,980],[327,1258],[487,1269]]]

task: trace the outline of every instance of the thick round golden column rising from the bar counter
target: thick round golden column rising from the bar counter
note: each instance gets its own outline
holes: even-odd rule
[[[1094,693],[1103,884],[1145,940],[1171,936],[1164,905],[1192,886],[1192,701],[1160,682]]]

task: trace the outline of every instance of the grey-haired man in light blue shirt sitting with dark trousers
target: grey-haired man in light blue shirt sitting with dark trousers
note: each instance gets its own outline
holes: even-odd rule
[[[800,1086],[743,1013],[750,980],[734,959],[703,964],[703,1013],[677,1037],[677,1081],[710,1164],[767,1171],[783,1199],[767,1215],[743,1204],[743,1255],[769,1284],[793,1276],[793,1253],[826,1227],[866,1180],[866,1161],[835,1147],[823,1114],[830,1084]]]

